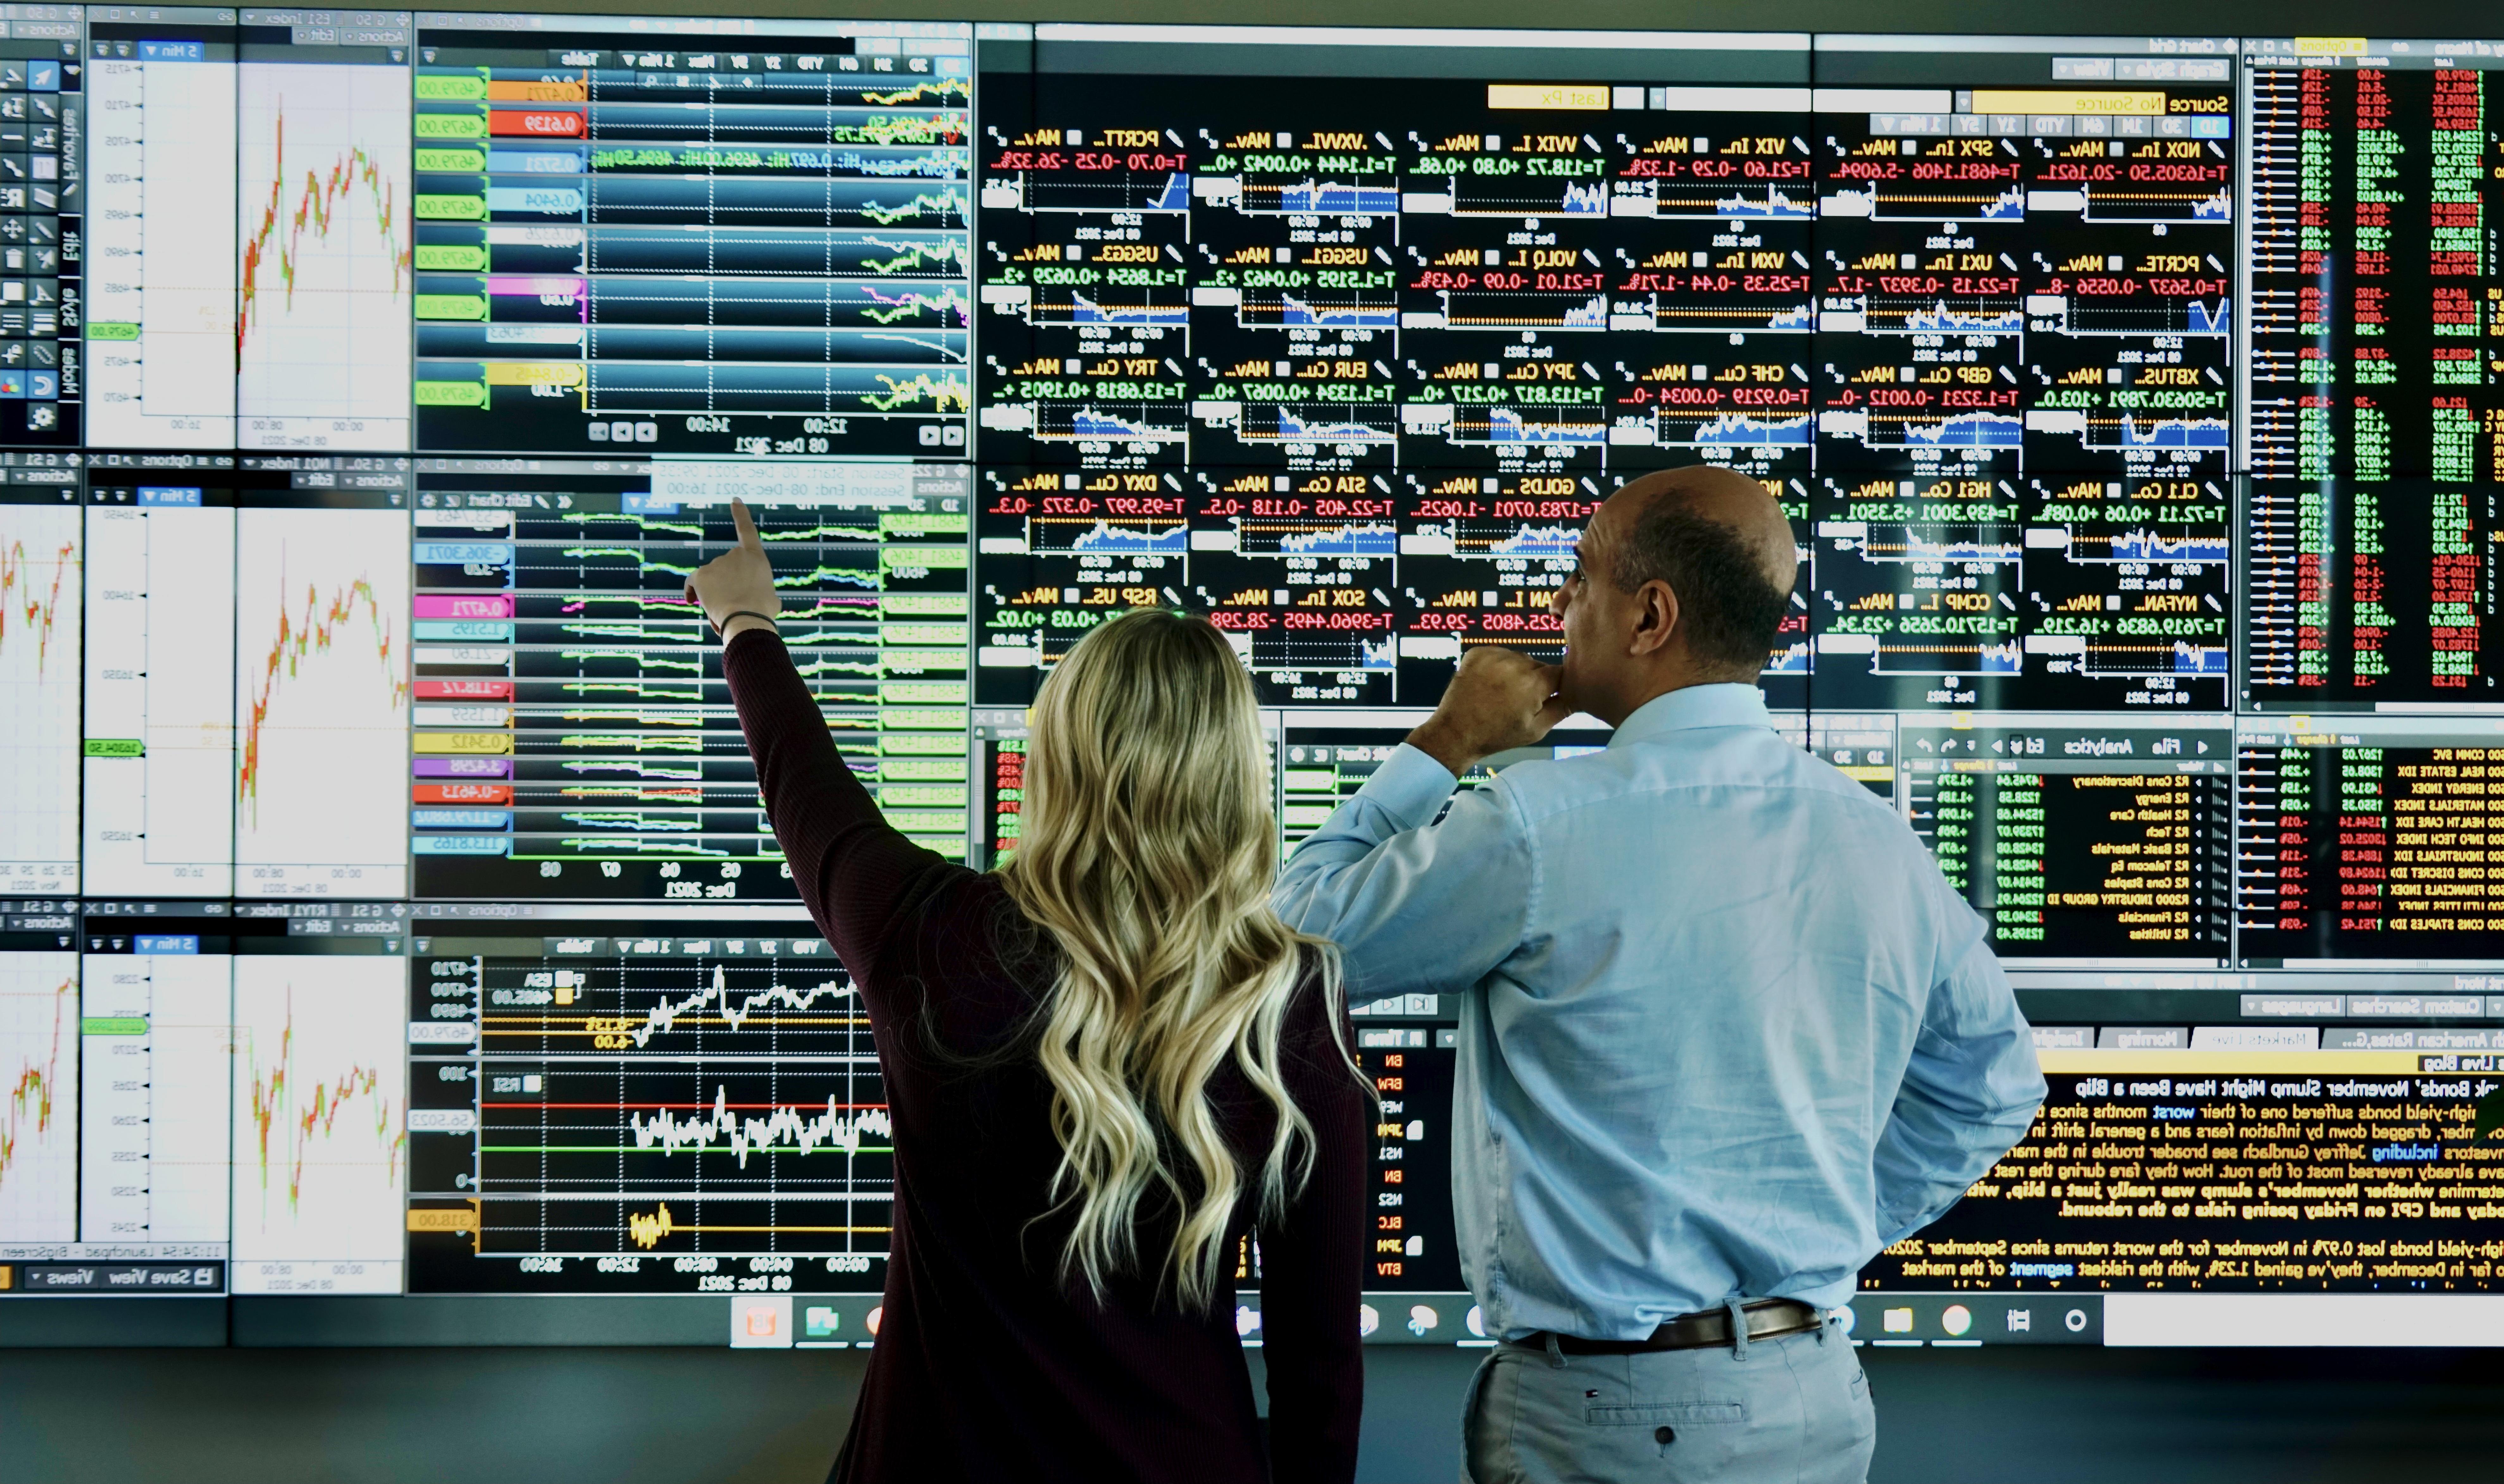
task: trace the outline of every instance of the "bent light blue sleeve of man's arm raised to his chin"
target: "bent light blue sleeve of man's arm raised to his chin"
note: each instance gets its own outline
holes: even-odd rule
[[[1277,916],[1340,946],[1355,999],[1455,994],[1522,941],[1537,873],[1512,793],[1455,786],[1402,743],[1280,873]]]

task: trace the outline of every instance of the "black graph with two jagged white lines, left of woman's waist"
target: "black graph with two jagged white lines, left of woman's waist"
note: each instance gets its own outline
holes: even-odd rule
[[[613,948],[416,963],[481,1001],[476,1189],[421,1201],[478,1199],[481,1259],[776,1254],[811,1261],[814,1281],[874,1286],[894,1114],[826,943]],[[531,1286],[521,1271],[463,1281]]]

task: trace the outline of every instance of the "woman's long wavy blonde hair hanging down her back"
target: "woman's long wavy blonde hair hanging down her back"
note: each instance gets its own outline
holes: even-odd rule
[[[1052,671],[1029,726],[1019,848],[999,876],[1059,946],[1037,1054],[1062,1144],[1054,1211],[1074,1211],[1062,1279],[1102,1299],[1107,1276],[1152,1271],[1204,1309],[1234,1256],[1244,1181],[1277,1214],[1312,1169],[1312,1124],[1280,1076],[1280,1024],[1307,961],[1340,1024],[1337,953],[1270,908],[1277,811],[1260,708],[1209,621],[1139,608]],[[1277,1111],[1249,1174],[1207,1096],[1227,1059]],[[1142,1254],[1139,1221],[1162,1206],[1179,1216],[1172,1249]]]

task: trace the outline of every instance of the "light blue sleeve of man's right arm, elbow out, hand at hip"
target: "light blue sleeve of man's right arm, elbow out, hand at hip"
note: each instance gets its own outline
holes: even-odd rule
[[[2026,1136],[2041,1106],[2033,1031],[1988,933],[1978,933],[1931,991],[1896,1109],[1878,1134],[1881,1246],[1938,1221]]]

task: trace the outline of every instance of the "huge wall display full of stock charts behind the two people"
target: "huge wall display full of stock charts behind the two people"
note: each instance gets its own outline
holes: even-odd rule
[[[1713,463],[1798,536],[1775,723],[2051,1081],[1855,1339],[2449,1344],[2499,55],[0,5],[0,1339],[874,1336],[876,1054],[684,598],[731,498],[844,761],[987,868],[1104,618],[1227,633],[1295,851]],[[1465,991],[1352,1006],[1372,1341],[1492,1339]]]

